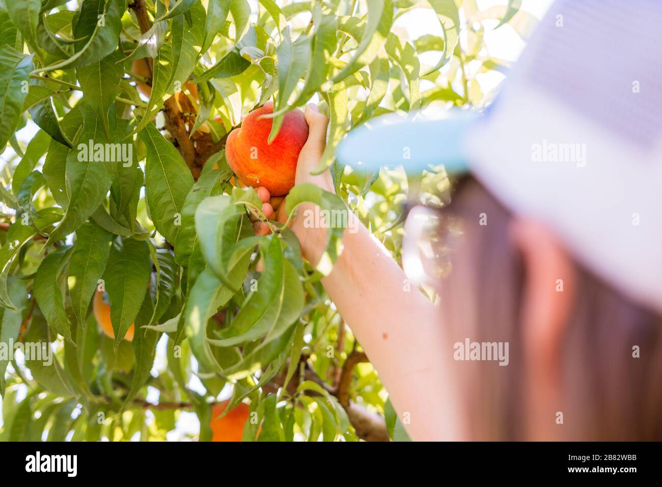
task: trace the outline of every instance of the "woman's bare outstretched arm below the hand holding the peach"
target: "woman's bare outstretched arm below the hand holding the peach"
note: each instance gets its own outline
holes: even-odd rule
[[[351,218],[355,218],[354,215]],[[440,415],[430,404],[445,404],[448,368],[442,348],[438,310],[406,275],[389,252],[355,221],[345,231],[344,250],[322,284],[343,319],[377,368],[399,416],[413,439],[449,439]],[[308,259],[320,258],[324,229],[301,235]],[[299,229],[301,233],[301,229]]]

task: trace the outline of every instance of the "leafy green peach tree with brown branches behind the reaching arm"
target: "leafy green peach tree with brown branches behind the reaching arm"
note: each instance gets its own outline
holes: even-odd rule
[[[246,441],[405,437],[330,266],[283,225],[254,235],[226,138],[266,101],[272,137],[319,103],[336,195],[296,186],[289,213],[348,208],[399,259],[402,203],[443,168],[365,174],[334,148],[377,115],[487,103],[507,65],[483,34],[526,35],[519,4],[0,0],[0,439],[205,441],[220,400],[250,404]]]

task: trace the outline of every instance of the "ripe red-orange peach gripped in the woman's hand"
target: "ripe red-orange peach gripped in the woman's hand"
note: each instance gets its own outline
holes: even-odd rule
[[[308,124],[301,110],[288,112],[278,136],[267,143],[272,119],[260,115],[273,113],[273,103],[252,111],[228,136],[225,155],[230,168],[246,186],[267,188],[272,196],[283,196],[295,184],[299,152],[308,138]]]

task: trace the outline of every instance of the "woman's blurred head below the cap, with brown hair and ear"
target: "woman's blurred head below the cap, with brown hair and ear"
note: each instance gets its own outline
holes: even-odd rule
[[[659,315],[473,178],[438,223],[426,244],[443,249],[436,287],[467,439],[662,439]]]

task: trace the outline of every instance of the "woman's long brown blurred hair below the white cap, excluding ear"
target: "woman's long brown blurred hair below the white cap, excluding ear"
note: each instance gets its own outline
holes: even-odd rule
[[[479,225],[482,213],[488,225]],[[457,364],[469,435],[526,439],[520,318],[525,276],[508,237],[512,215],[477,180],[464,178],[440,219],[438,237],[454,249],[448,256],[452,270],[439,290],[451,343],[465,337],[509,343],[508,366]],[[662,318],[574,264],[577,293],[557,371],[563,404],[549,405],[549,420],[563,411],[563,426],[550,439],[662,439]],[[639,358],[633,357],[634,346]]]

